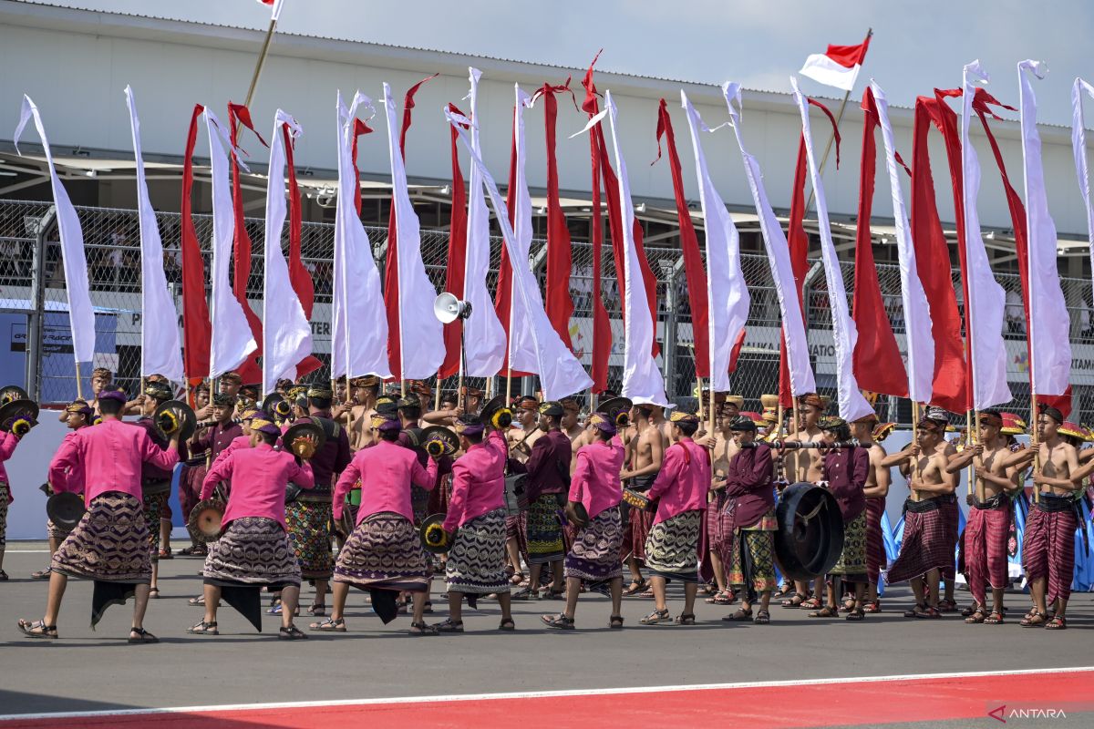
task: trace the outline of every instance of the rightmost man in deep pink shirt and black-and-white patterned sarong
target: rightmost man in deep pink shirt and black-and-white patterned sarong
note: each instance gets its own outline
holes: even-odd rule
[[[645,566],[656,607],[641,620],[653,625],[671,620],[665,607],[665,585],[670,579],[684,583],[684,612],[679,625],[695,625],[695,595],[699,574],[697,551],[702,512],[710,489],[710,454],[691,436],[699,419],[691,413],[673,411],[670,420],[674,445],[665,449],[665,460],[645,495],[657,503],[657,515],[645,540]]]

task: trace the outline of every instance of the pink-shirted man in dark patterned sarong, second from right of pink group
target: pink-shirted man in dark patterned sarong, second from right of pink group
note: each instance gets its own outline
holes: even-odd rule
[[[624,447],[615,437],[614,419],[604,413],[589,416],[594,440],[578,450],[578,463],[570,481],[570,502],[580,502],[589,515],[589,524],[578,532],[570,553],[566,555],[566,611],[543,615],[550,627],[573,628],[581,580],[608,583],[612,590],[612,616],[608,627],[622,627],[622,520],[619,502],[622,484]]]

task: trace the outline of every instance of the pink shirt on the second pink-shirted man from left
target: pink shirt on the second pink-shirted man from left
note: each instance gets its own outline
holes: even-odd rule
[[[228,495],[223,525],[245,516],[274,519],[288,531],[284,524],[284,489],[292,481],[301,489],[315,485],[312,467],[298,465],[292,454],[274,450],[259,443],[254,448],[224,449],[209,469],[201,483],[201,498],[209,498],[218,483],[232,481]]]

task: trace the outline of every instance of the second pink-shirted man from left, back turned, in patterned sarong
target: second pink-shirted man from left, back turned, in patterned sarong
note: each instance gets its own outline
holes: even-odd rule
[[[218,457],[201,484],[201,498],[216,485],[232,481],[220,539],[209,545],[205,569],[205,619],[187,628],[197,635],[219,635],[217,605],[224,600],[261,631],[259,591],[281,592],[278,638],[306,638],[292,624],[300,600],[300,563],[284,522],[284,490],[290,481],[302,489],[315,484],[312,467],[289,451],[275,450],[281,428],[266,413],[253,415],[248,448],[233,448]],[[225,455],[226,454],[226,455]]]

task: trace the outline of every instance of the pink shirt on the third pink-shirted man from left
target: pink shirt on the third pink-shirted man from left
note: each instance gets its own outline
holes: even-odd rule
[[[422,468],[415,451],[388,440],[362,448],[335,485],[335,521],[341,518],[346,494],[358,479],[361,479],[361,506],[357,510],[357,524],[381,512],[394,512],[414,521],[410,484],[431,491],[437,484],[437,461],[430,458],[429,467]]]

